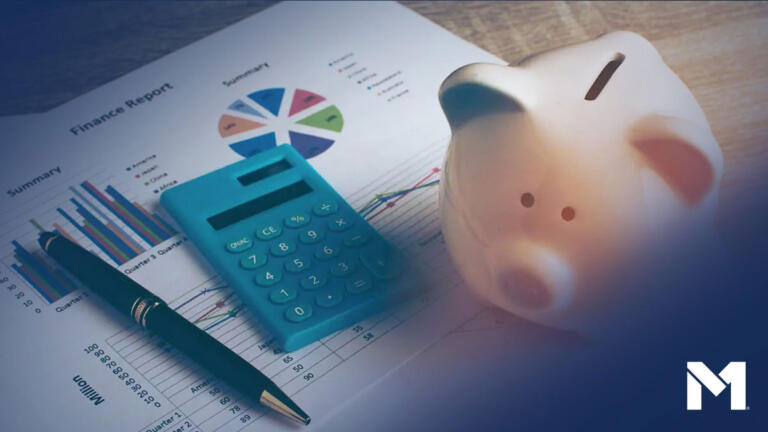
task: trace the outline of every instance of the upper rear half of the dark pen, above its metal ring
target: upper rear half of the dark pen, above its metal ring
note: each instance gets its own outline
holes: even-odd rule
[[[146,302],[145,307],[155,302],[162,303],[131,278],[64,236],[51,238],[43,248],[83,285],[121,313],[132,316],[132,309],[142,299]]]

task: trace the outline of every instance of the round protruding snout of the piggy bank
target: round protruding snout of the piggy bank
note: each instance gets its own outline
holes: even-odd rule
[[[542,311],[566,306],[573,278],[566,261],[555,251],[518,244],[497,268],[499,294],[515,309]]]

